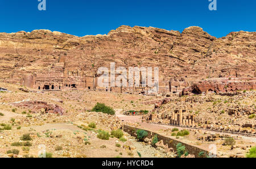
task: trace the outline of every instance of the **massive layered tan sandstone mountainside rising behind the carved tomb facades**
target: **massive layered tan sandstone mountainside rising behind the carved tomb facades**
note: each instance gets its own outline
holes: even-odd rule
[[[255,77],[256,32],[231,32],[217,39],[200,27],[182,33],[153,27],[121,26],[108,35],[77,37],[61,32],[0,33],[0,81],[45,72],[56,62],[91,74],[97,67],[159,67],[160,80]]]

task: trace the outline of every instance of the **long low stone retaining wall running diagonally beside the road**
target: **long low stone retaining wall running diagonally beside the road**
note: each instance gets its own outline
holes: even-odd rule
[[[123,125],[123,130],[125,132],[129,133],[131,136],[134,136],[134,137],[136,137],[135,133],[136,133],[136,130],[138,130],[138,129],[140,129],[140,128],[135,128],[135,127],[129,126],[129,125]],[[209,154],[209,151],[200,149],[199,147],[188,145],[187,143],[174,140],[170,137],[162,136],[158,133],[151,132],[150,130],[145,130],[145,131],[148,132],[147,138],[151,139],[152,137],[155,136],[155,134],[157,134],[158,135],[158,141],[163,140],[163,143],[165,145],[167,144],[168,147],[172,147],[172,149],[174,149],[175,151],[177,151],[176,150],[177,144],[181,143],[182,145],[185,146],[185,149],[188,151],[188,153],[195,155],[196,158],[199,158],[199,153],[202,152],[202,151],[205,152],[204,157],[206,157],[205,154],[207,154],[207,155]]]

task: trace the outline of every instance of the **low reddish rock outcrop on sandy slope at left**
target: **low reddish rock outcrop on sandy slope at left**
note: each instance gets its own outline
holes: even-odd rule
[[[33,113],[57,113],[63,115],[64,109],[56,104],[47,104],[47,102],[40,101],[23,101],[18,103],[12,103],[16,107],[27,108]]]

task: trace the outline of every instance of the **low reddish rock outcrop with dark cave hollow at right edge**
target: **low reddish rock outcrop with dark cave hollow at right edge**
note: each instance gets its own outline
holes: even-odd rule
[[[256,78],[216,78],[200,81],[183,89],[183,95],[216,92],[225,94],[238,90],[255,90]]]

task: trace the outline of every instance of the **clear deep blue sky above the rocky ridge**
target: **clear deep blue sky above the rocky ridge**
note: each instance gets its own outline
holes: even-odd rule
[[[182,32],[200,26],[210,35],[256,31],[255,0],[217,0],[217,11],[208,0],[0,0],[0,32],[49,29],[76,36],[108,33],[121,25],[152,26]]]

